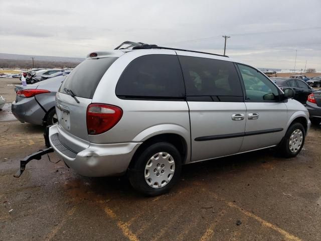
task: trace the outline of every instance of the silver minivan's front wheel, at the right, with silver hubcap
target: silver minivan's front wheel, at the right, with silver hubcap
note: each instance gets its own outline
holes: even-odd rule
[[[278,152],[285,158],[295,157],[300,153],[305,140],[305,130],[301,123],[293,123],[286,131]]]

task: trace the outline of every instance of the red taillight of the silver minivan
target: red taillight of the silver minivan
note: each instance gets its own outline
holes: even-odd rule
[[[122,109],[109,104],[90,104],[87,107],[87,132],[98,135],[113,128],[122,116]]]

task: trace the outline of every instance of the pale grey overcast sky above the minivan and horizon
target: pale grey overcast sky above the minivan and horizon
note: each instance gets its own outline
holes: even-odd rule
[[[223,54],[230,35],[226,54],[255,67],[293,69],[297,50],[296,69],[321,70],[321,0],[0,0],[0,10],[0,53],[85,57],[129,40]]]

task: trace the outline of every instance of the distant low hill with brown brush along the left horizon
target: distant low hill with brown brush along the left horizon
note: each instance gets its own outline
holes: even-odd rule
[[[0,53],[0,68],[32,68],[33,65],[31,57],[35,57],[35,68],[74,68],[85,59]]]

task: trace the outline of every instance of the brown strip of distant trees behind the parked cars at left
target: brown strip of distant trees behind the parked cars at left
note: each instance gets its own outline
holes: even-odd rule
[[[64,62],[64,61],[37,61],[35,60],[35,68],[75,68],[79,63]],[[0,59],[0,68],[22,68],[32,69],[32,61],[30,60],[14,60],[14,59]]]

